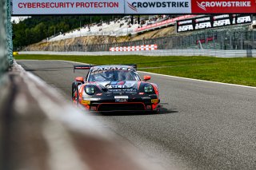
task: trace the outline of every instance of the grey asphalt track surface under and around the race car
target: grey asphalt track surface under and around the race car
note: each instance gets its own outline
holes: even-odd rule
[[[67,100],[74,77],[85,76],[68,61],[18,63]],[[160,114],[93,117],[165,169],[256,169],[256,89],[150,76],[164,104]]]

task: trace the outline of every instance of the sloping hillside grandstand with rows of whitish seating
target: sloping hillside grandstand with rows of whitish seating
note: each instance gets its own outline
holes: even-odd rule
[[[124,18],[116,18],[111,22],[93,23],[82,26],[68,33],[60,33],[56,37],[49,38],[47,41],[54,42],[68,38],[78,38],[92,35],[108,35],[108,36],[126,36],[128,34],[138,34],[149,30],[155,30],[166,26],[174,26],[176,21],[195,18],[197,15],[182,15],[170,18],[169,15],[159,15],[148,18],[142,18],[139,23],[138,18],[134,18],[134,23],[131,24],[131,16]]]

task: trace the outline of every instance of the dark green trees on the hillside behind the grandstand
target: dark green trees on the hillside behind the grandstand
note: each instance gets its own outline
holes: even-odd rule
[[[107,22],[122,16],[33,16],[21,22],[13,22],[14,50],[41,42],[46,38],[78,29],[90,23]]]

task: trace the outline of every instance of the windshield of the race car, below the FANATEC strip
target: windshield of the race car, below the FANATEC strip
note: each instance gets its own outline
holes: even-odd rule
[[[88,81],[140,81],[140,78],[135,71],[110,69],[91,72]]]

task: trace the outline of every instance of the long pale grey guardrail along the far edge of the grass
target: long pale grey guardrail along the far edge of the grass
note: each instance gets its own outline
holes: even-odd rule
[[[49,54],[49,55],[143,55],[143,56],[211,56],[211,57],[256,57],[256,49],[218,50],[218,49],[166,49],[151,51],[122,51],[122,52],[54,52],[54,51],[22,51],[20,54]]]

